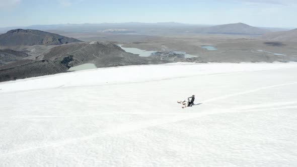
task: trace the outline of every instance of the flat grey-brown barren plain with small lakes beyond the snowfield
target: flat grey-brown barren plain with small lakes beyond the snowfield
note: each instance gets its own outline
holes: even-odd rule
[[[60,33],[83,41],[109,40],[123,44],[123,47],[148,51],[182,51],[199,56],[197,60],[205,62],[297,61],[297,42],[264,40],[257,35]],[[270,43],[279,43],[279,45]],[[217,50],[201,47],[205,45],[214,46]]]

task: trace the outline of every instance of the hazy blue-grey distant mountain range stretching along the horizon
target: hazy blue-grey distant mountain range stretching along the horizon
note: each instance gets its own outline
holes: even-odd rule
[[[252,27],[243,23],[226,24],[226,25],[205,25],[205,24],[182,24],[175,22],[161,23],[101,23],[101,24],[58,24],[58,25],[32,25],[28,27],[7,27],[0,28],[0,33],[5,33],[8,30],[22,29],[37,29],[43,31],[65,31],[65,32],[97,32],[109,29],[126,29],[126,31],[150,34],[152,29],[154,32],[178,33],[223,33],[223,34],[263,34],[267,32],[285,31],[287,29],[280,28],[258,28]],[[118,31],[117,33],[125,33],[126,31]]]

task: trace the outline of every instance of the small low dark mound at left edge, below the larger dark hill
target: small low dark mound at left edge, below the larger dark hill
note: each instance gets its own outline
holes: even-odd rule
[[[11,49],[5,49],[5,50],[0,49],[0,65],[6,64],[12,61],[17,61],[29,56],[30,55],[26,53],[14,51]]]

